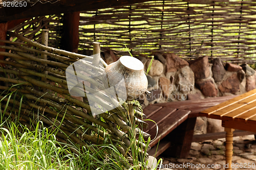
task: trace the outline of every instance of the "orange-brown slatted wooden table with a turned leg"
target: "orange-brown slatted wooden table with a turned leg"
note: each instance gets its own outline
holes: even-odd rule
[[[226,131],[226,169],[232,169],[234,129],[256,132],[256,89],[199,113],[222,120]]]

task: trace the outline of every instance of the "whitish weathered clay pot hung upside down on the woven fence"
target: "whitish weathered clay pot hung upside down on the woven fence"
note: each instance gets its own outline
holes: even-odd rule
[[[137,99],[147,89],[144,65],[134,57],[122,56],[105,68],[103,84],[105,88],[114,87],[121,99]]]

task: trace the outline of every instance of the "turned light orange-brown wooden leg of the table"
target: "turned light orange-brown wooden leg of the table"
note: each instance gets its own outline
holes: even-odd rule
[[[226,131],[226,169],[232,169],[233,157],[233,131],[234,129],[225,128]]]

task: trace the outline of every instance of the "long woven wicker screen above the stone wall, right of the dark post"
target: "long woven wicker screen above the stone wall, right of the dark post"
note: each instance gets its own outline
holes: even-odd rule
[[[151,1],[80,14],[80,45],[93,41],[123,55],[174,52],[187,58],[221,57],[254,63],[256,2]]]

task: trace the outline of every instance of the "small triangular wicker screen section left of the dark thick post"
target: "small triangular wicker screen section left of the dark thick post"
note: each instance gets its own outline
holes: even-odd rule
[[[23,35],[31,40],[41,43],[42,29],[49,30],[48,45],[51,47],[58,47],[60,40],[60,15],[41,16],[29,19],[24,23],[12,28],[8,31],[15,31],[16,33]],[[16,39],[16,42],[23,42],[20,39]]]

